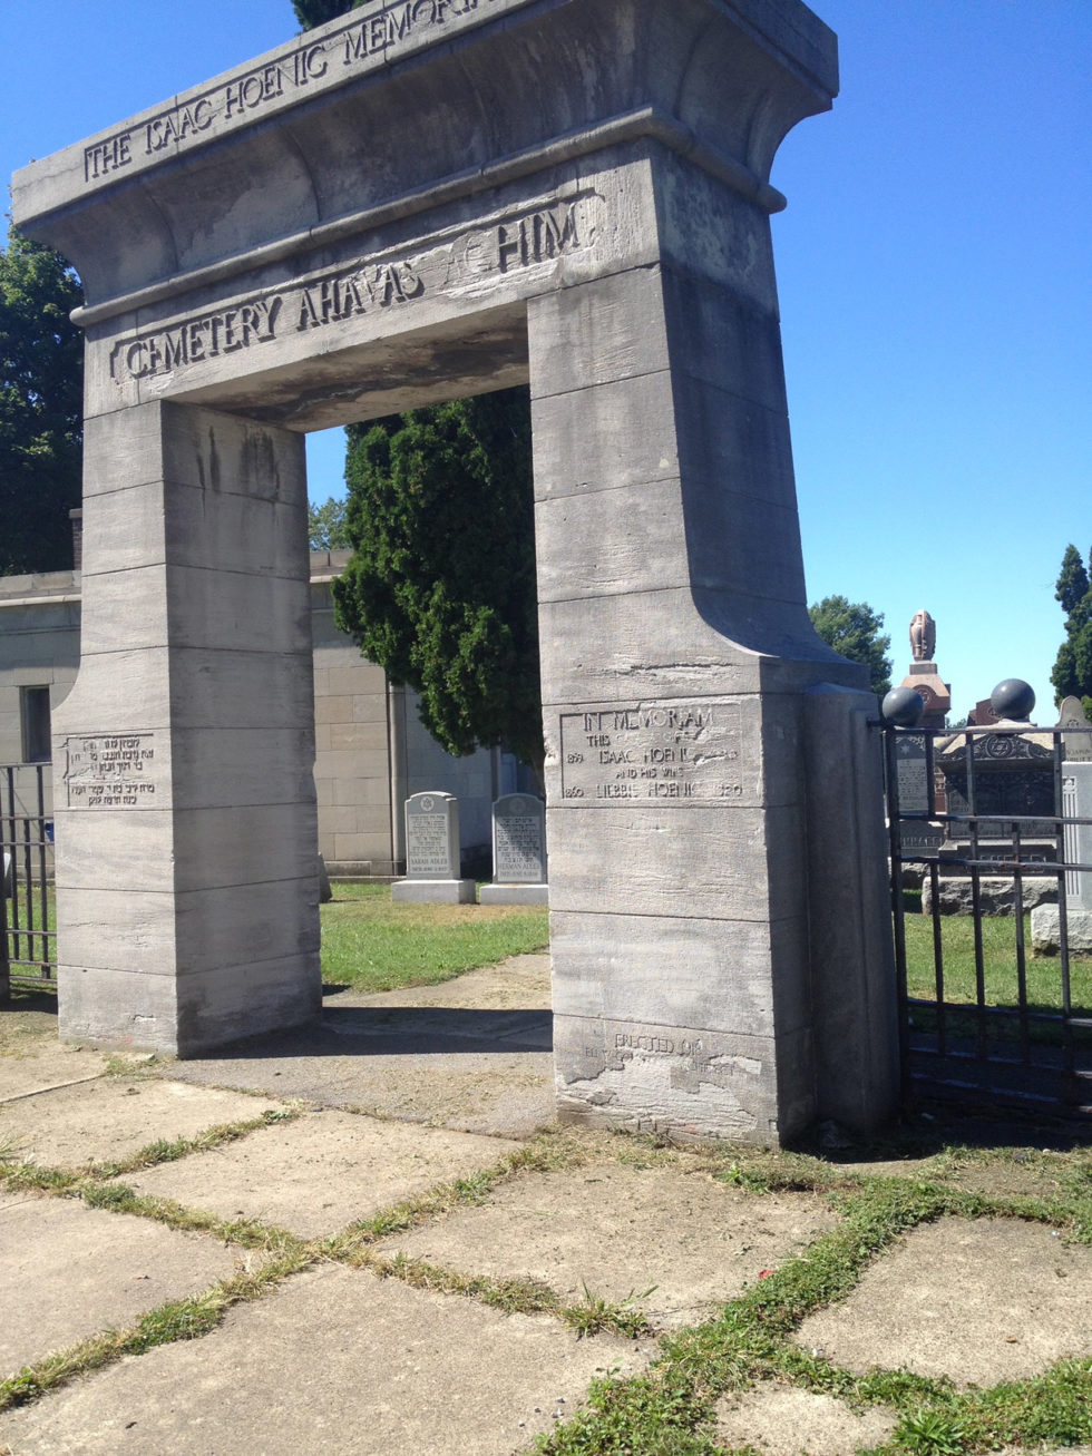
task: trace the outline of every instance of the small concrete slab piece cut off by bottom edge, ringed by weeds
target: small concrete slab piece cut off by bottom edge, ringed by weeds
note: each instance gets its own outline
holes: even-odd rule
[[[770,1456],[853,1456],[885,1441],[895,1424],[890,1411],[853,1411],[844,1401],[789,1385],[763,1383],[716,1406],[718,1441],[757,1446]]]

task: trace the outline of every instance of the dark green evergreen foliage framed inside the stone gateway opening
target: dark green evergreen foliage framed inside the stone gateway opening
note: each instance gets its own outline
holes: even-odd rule
[[[421,696],[456,756],[504,744],[542,772],[526,389],[349,427],[352,558],[338,625]]]

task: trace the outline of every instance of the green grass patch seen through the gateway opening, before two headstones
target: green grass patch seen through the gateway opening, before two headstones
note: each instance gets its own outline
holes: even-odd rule
[[[395,904],[389,885],[335,884],[322,907],[326,986],[434,986],[549,943],[539,906]]]

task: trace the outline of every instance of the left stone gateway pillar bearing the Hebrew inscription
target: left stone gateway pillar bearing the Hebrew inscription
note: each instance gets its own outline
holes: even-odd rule
[[[320,1006],[303,435],[90,418],[54,715],[60,1031],[198,1054]]]

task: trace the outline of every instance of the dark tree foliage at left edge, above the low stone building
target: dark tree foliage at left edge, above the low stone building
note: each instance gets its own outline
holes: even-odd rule
[[[80,504],[83,336],[79,278],[15,227],[0,252],[0,575],[71,565]]]

